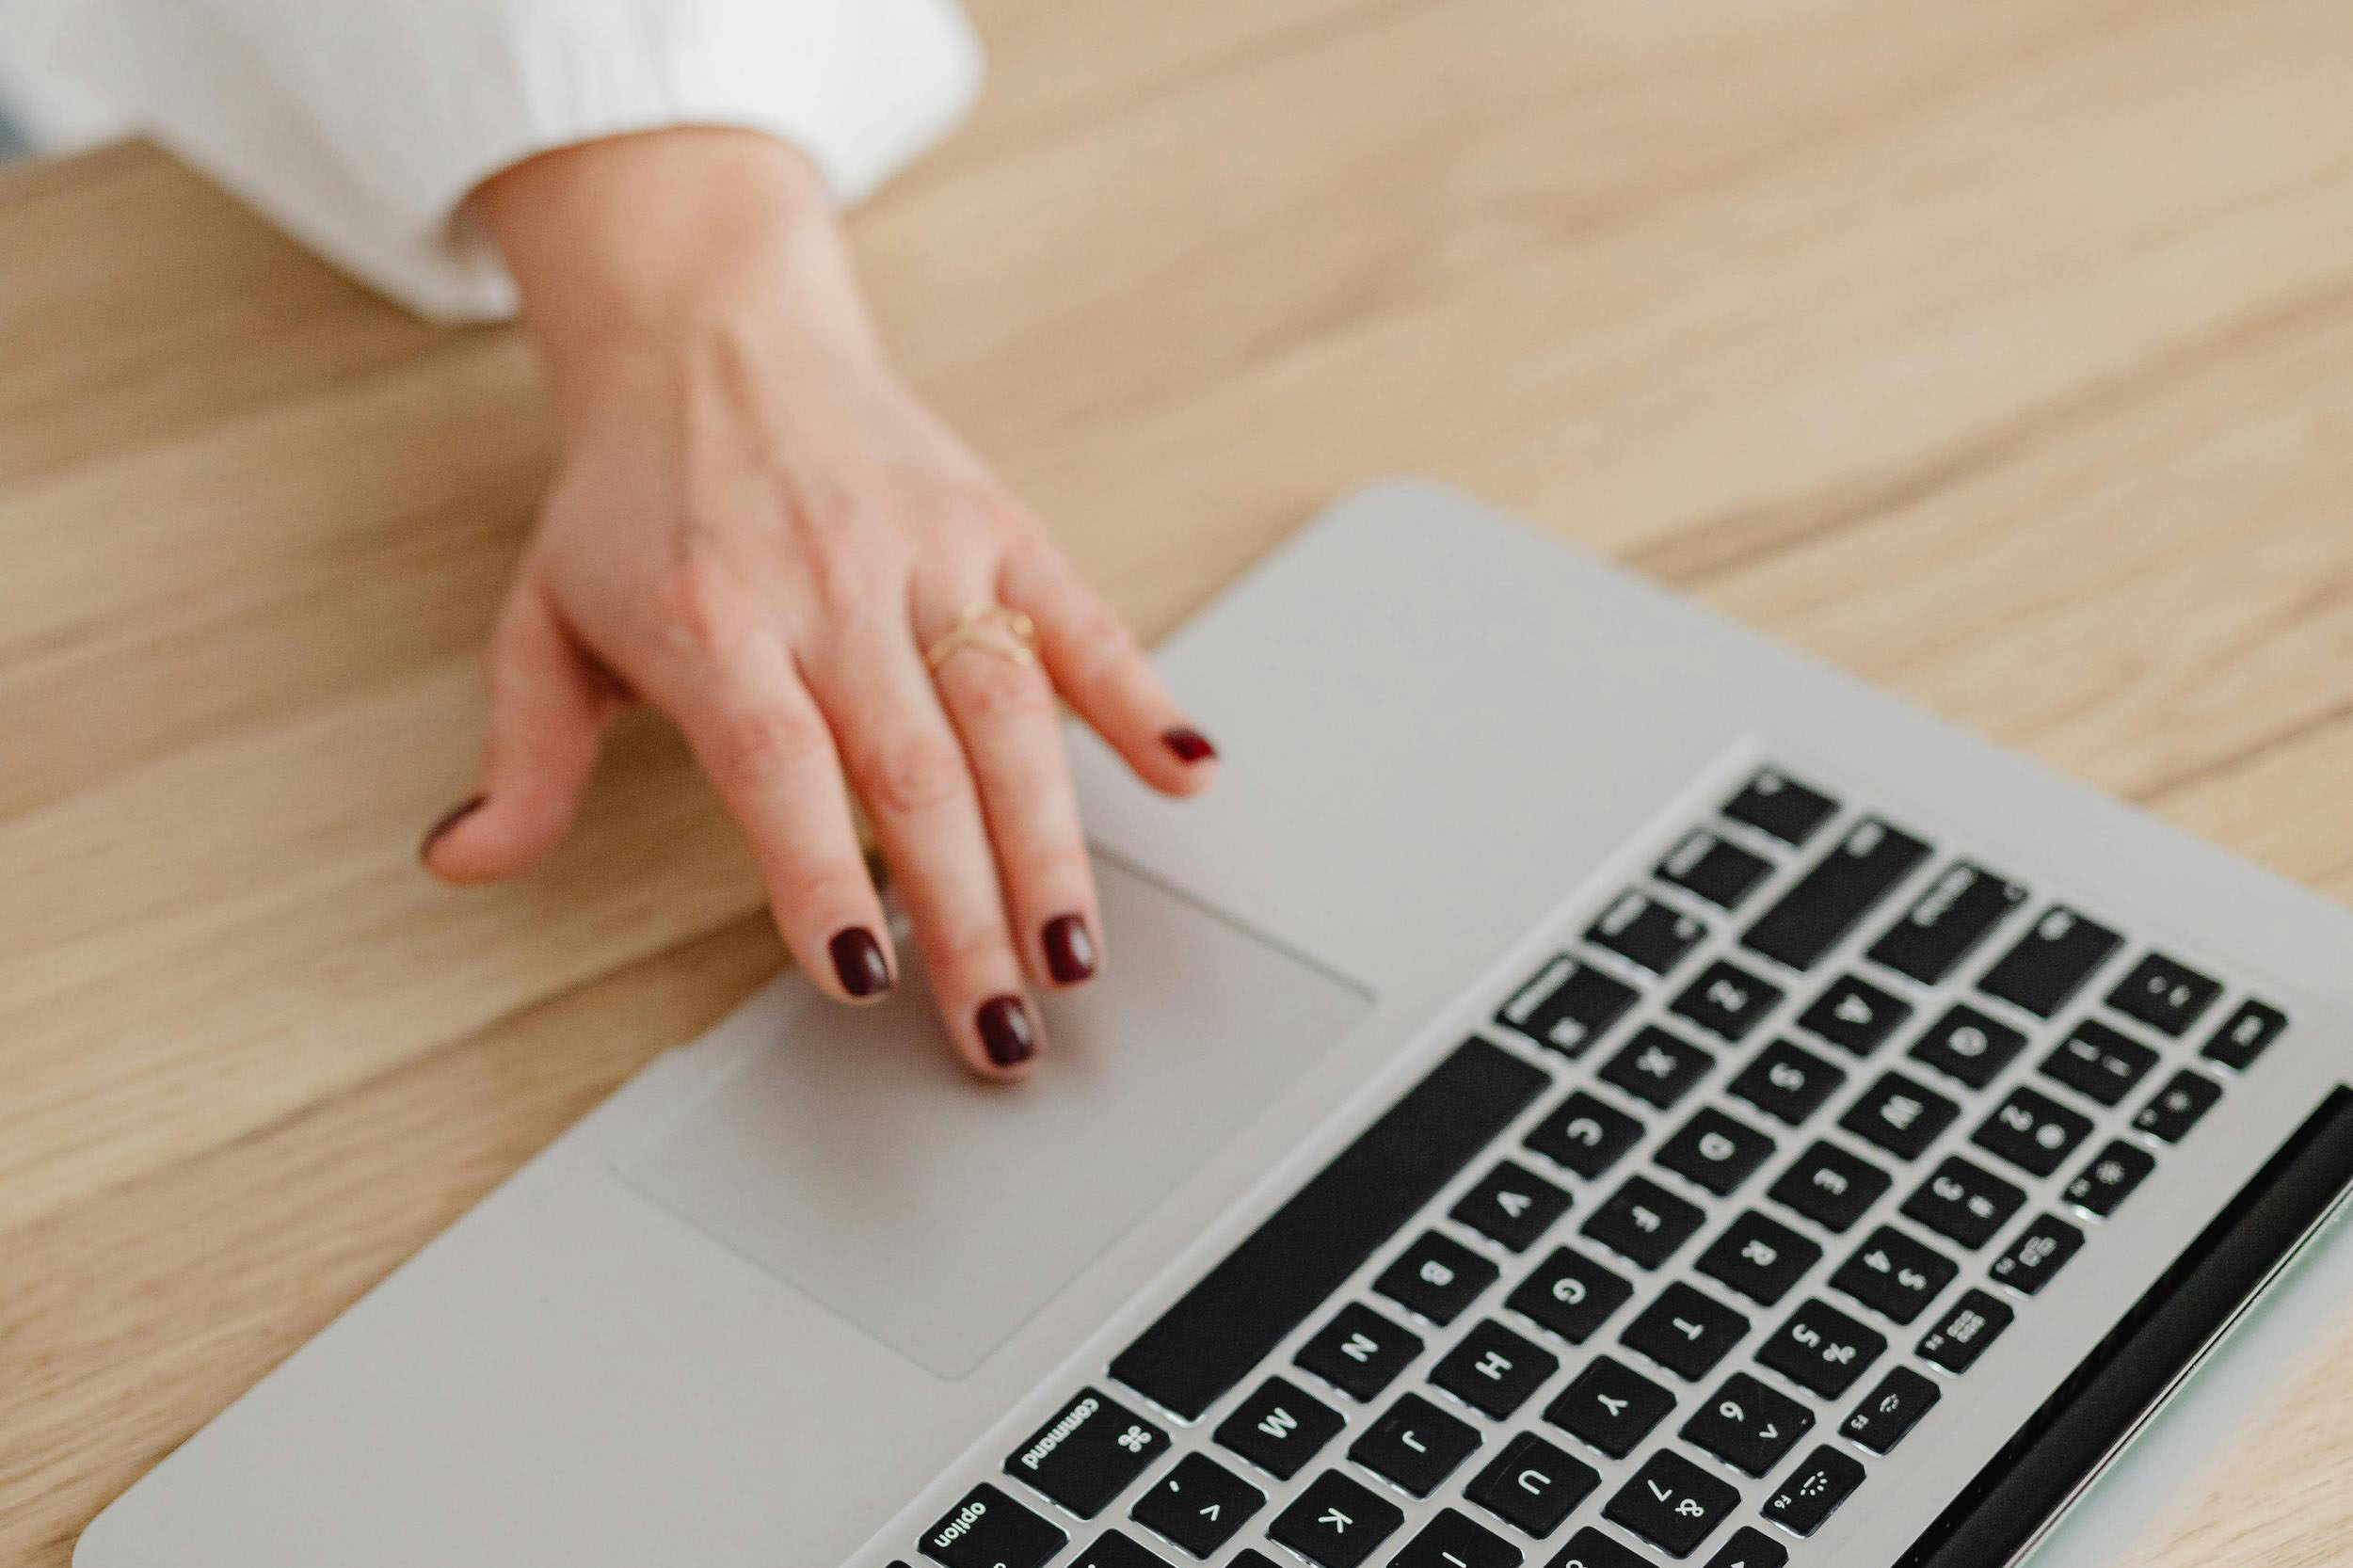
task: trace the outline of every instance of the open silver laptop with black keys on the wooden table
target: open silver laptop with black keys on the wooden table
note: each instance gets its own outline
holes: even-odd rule
[[[1028,1088],[786,977],[75,1561],[1988,1568],[2353,1177],[2346,911],[1459,497],[1165,669]]]

